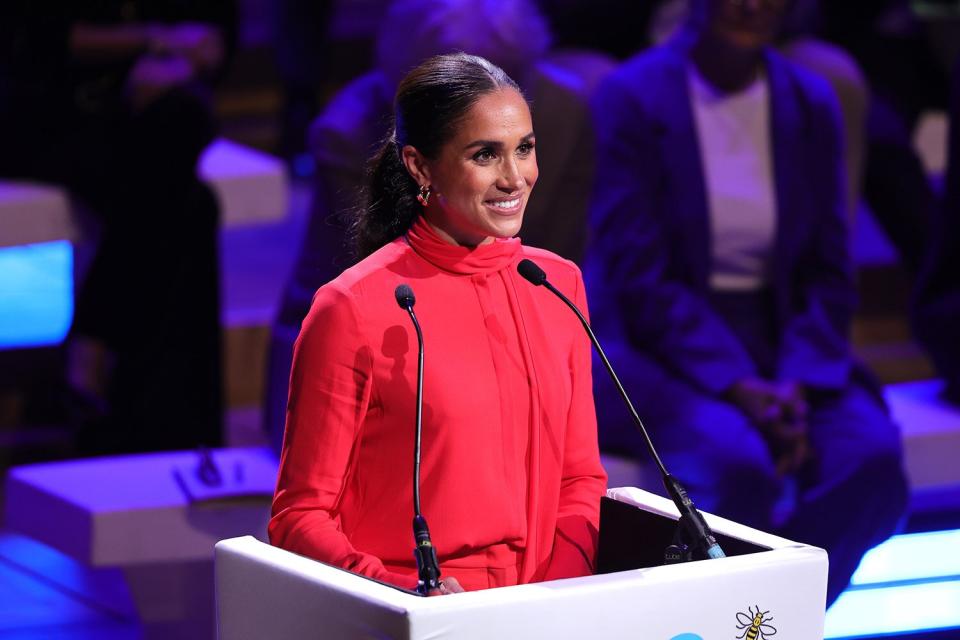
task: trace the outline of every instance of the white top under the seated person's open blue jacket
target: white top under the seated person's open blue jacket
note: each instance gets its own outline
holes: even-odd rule
[[[710,287],[755,291],[768,282],[777,227],[766,77],[728,94],[687,69],[710,214]]]

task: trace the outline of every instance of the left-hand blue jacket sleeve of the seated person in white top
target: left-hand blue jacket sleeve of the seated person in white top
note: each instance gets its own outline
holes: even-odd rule
[[[664,125],[656,123],[647,113],[649,105],[631,89],[652,80],[663,79],[618,73],[596,96],[599,164],[591,210],[590,284],[595,300],[599,295],[612,301],[606,314],[617,318],[635,348],[719,393],[753,375],[755,367],[730,328],[691,287],[692,276],[678,255],[685,241],[679,234],[689,230],[676,223],[671,228],[668,222],[679,215],[679,191],[691,185],[678,184],[664,156],[688,150],[661,148]],[[696,145],[689,146],[695,153]]]

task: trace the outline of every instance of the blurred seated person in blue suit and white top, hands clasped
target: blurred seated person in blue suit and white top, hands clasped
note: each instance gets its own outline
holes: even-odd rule
[[[668,468],[704,510],[825,548],[832,602],[907,487],[899,431],[850,353],[836,100],[770,47],[788,4],[702,0],[598,90],[586,274]],[[601,448],[645,459],[596,383]]]

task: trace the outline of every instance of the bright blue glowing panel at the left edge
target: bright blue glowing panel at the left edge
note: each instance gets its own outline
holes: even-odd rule
[[[72,319],[69,241],[0,249],[0,349],[59,344]]]

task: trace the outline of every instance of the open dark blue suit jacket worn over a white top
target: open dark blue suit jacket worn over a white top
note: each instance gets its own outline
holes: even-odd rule
[[[708,302],[710,226],[686,65],[692,42],[623,65],[594,104],[598,138],[587,278],[600,333],[720,393],[756,373]],[[839,110],[827,84],[765,53],[777,232],[776,375],[842,386],[854,289]]]

